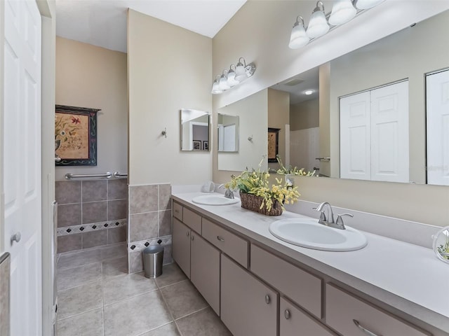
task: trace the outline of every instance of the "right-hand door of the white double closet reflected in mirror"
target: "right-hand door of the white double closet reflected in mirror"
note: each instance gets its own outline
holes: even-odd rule
[[[408,80],[371,90],[371,180],[409,182]]]

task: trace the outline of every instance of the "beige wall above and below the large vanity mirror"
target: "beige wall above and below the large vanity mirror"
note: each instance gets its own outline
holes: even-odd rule
[[[248,1],[236,13],[213,38],[213,73],[221,73],[241,56],[247,62],[255,62],[257,70],[238,90],[215,96],[214,111],[448,9],[449,3],[385,1],[305,48],[288,49],[296,15],[307,16],[314,6],[313,1]],[[388,19],[384,10],[388,10]],[[379,25],[386,20],[387,24]],[[229,179],[229,174],[218,171],[216,158],[213,169],[215,182]],[[318,183],[316,179],[300,180],[297,185],[303,200],[330,200],[349,209],[363,206],[363,211],[387,216],[394,212],[398,218],[435,225],[449,223],[448,188],[338,179],[320,179]]]

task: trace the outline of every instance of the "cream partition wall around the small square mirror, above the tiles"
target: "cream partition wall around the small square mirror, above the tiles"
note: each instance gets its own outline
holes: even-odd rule
[[[128,11],[131,185],[212,179],[210,152],[180,151],[180,109],[211,112],[212,78],[210,38]]]

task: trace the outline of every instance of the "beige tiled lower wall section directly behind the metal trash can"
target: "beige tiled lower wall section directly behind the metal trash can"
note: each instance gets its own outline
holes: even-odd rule
[[[142,251],[149,245],[164,247],[163,263],[171,258],[171,185],[129,187],[128,266],[129,272],[143,269]]]

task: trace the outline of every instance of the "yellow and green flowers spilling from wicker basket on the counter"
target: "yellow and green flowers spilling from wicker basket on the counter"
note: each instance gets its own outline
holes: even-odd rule
[[[260,197],[262,200],[260,209],[266,210],[262,213],[269,213],[272,211],[272,207],[276,207],[277,205],[281,208],[281,214],[282,210],[285,210],[283,204],[293,204],[300,197],[300,193],[298,193],[297,187],[292,188],[289,183],[282,183],[282,179],[276,178],[277,184],[270,186],[269,172],[262,172],[260,170],[261,165],[262,161],[260,161],[257,170],[252,169],[249,171],[246,168],[239,176],[232,175],[232,180],[226,183],[225,187],[231,190],[239,189],[241,195],[250,194]]]

